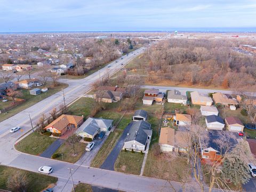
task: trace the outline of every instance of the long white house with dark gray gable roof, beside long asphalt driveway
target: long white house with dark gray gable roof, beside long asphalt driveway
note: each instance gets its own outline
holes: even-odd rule
[[[123,149],[145,151],[152,137],[151,124],[143,120],[132,122],[131,129],[124,141]]]

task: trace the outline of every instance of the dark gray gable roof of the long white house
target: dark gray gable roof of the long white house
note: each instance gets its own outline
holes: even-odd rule
[[[135,140],[143,145],[146,145],[148,135],[152,135],[152,130],[150,127],[151,124],[143,120],[132,122],[129,135],[127,135],[125,142]]]

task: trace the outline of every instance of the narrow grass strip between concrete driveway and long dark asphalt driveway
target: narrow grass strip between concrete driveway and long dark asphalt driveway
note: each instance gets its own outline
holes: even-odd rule
[[[110,133],[105,143],[100,148],[99,152],[91,162],[92,167],[99,168],[102,165],[102,163],[105,161],[107,156],[110,154],[111,150],[115,147],[116,142],[121,137],[122,133],[123,131],[118,129],[115,129],[114,132]]]

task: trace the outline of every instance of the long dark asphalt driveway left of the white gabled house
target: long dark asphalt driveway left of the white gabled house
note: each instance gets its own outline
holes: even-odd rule
[[[121,135],[121,137],[116,143],[116,146],[108,155],[105,162],[101,165],[100,167],[101,169],[114,171],[114,165],[115,165],[116,159],[124,145],[124,140],[126,139],[127,133],[129,133],[131,126],[132,126],[132,123],[130,123],[125,127],[123,134]]]

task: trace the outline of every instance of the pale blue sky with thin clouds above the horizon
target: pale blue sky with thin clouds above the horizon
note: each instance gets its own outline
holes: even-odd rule
[[[251,27],[255,0],[0,0],[0,32]]]

